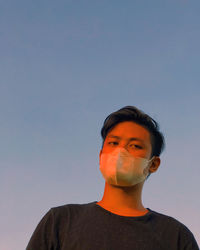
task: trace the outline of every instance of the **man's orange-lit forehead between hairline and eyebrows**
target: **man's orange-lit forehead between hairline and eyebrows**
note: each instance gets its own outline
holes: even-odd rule
[[[108,132],[107,137],[110,134],[122,137],[124,139],[138,137],[143,141],[150,143],[150,132],[145,127],[132,121],[118,123]]]

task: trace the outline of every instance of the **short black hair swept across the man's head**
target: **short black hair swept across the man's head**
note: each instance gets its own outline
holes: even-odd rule
[[[133,121],[146,128],[151,138],[151,158],[153,156],[160,156],[165,147],[165,139],[159,131],[159,124],[135,106],[125,106],[106,117],[101,129],[101,136],[103,138],[102,148],[108,132],[118,123],[124,121]]]

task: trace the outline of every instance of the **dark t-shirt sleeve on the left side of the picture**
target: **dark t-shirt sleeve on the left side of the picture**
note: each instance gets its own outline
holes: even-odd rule
[[[26,250],[53,249],[54,219],[50,209],[37,225],[28,243]]]

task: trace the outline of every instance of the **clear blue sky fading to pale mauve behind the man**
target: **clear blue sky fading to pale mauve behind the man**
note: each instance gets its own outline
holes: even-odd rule
[[[199,0],[0,1],[0,249],[102,198],[100,130],[126,105],[165,135],[143,202],[200,244]]]

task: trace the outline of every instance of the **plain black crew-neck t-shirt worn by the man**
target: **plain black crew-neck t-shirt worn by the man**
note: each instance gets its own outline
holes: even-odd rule
[[[26,250],[199,250],[191,231],[148,208],[143,216],[114,214],[95,202],[51,208]]]

